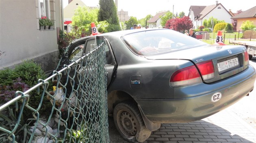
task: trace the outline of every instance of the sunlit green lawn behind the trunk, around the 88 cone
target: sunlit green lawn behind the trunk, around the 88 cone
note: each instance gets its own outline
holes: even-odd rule
[[[214,44],[216,40],[217,33],[209,33],[210,34],[210,40],[204,40],[202,39],[203,42],[206,42],[208,44]],[[222,33],[223,37],[223,43],[226,45],[234,45],[233,43],[229,43],[229,40],[242,40],[242,41],[249,41],[249,39],[242,39],[243,34],[239,34],[238,32],[234,33]],[[256,41],[255,39],[252,41]]]

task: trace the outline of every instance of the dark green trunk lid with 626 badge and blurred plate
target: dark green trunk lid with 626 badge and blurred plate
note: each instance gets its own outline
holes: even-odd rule
[[[147,59],[164,60],[180,59],[188,60],[196,65],[205,61],[212,61],[214,66],[214,78],[202,80],[206,83],[215,82],[234,74],[237,74],[248,67],[245,61],[246,48],[244,46],[201,46],[189,49],[182,49],[176,52],[163,55],[146,57]],[[202,74],[202,73],[201,73]]]

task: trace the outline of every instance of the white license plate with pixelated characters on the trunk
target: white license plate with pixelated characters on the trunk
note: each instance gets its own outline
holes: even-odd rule
[[[218,62],[219,74],[240,67],[238,56]]]

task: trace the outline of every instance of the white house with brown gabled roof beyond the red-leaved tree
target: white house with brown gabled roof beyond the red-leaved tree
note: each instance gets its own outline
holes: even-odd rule
[[[193,21],[194,29],[197,29],[197,27],[203,25],[205,19],[208,20],[210,17],[231,23],[232,15],[221,3],[218,4],[218,1],[216,1],[215,5],[210,6],[190,6],[189,17]]]

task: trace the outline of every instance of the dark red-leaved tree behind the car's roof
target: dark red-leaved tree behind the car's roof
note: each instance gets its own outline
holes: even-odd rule
[[[193,22],[189,17],[184,16],[182,18],[168,20],[165,24],[165,27],[178,32],[184,32],[185,30],[191,29],[193,27]]]

